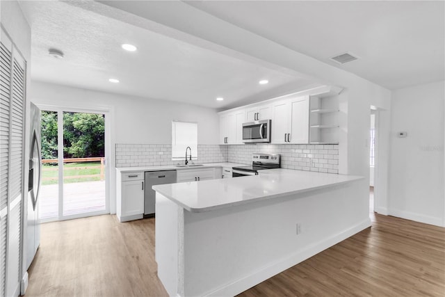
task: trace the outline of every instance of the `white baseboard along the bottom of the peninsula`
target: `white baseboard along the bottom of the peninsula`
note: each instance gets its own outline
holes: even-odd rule
[[[293,254],[287,255],[274,264],[261,268],[261,270],[252,273],[251,275],[248,275],[241,280],[236,280],[231,284],[220,287],[215,291],[207,294],[207,296],[235,296],[237,294],[240,294],[241,292],[245,291],[246,288],[253,287],[260,282],[264,282],[264,280],[267,280],[268,278],[272,278],[273,275],[281,273],[282,271],[285,271],[286,269],[305,261],[305,259],[309,259],[310,257],[318,254],[318,252],[334,246],[335,244],[347,239],[350,236],[353,236],[354,234],[366,229],[367,227],[371,227],[371,219],[369,218],[363,220],[353,227],[348,228],[347,230],[344,230],[339,234],[335,234],[328,237],[327,239],[323,239],[322,241],[318,241],[317,243],[297,250]]]

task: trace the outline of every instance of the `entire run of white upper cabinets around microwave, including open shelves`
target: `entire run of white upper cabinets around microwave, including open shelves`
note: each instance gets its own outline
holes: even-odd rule
[[[272,120],[271,143],[339,143],[337,86],[268,99],[220,113],[220,144],[243,144],[243,122]]]

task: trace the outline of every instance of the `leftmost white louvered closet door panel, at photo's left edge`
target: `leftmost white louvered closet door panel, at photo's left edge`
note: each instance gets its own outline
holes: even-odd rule
[[[6,295],[11,53],[0,43],[0,296]]]

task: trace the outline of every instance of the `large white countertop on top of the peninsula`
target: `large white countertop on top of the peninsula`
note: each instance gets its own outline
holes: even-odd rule
[[[363,179],[290,169],[261,170],[259,175],[181,182],[153,186],[154,191],[192,212],[211,211],[239,204],[314,191]]]

